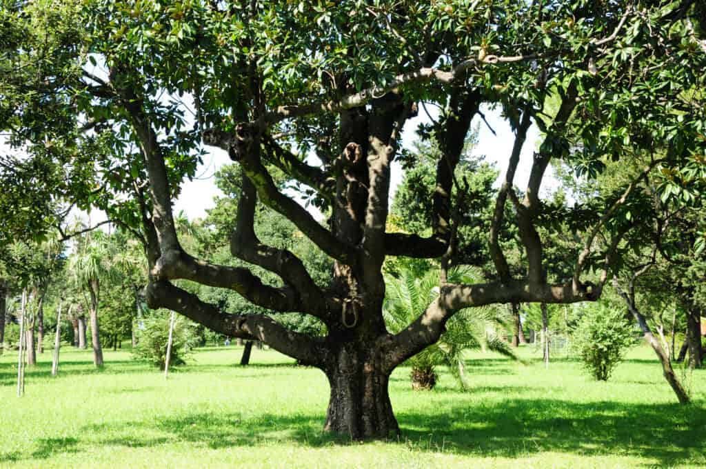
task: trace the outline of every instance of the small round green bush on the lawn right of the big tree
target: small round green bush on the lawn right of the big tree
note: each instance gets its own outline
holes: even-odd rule
[[[573,333],[572,348],[595,379],[608,381],[634,344],[633,328],[624,311],[592,304]]]

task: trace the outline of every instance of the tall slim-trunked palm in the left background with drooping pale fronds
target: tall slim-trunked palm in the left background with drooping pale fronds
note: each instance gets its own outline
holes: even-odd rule
[[[103,366],[103,350],[100,346],[100,328],[98,326],[98,300],[102,282],[112,280],[116,273],[111,265],[112,252],[101,232],[92,233],[80,242],[76,254],[68,263],[73,283],[81,290],[88,292],[86,303],[90,316],[91,345],[93,348],[93,364]]]

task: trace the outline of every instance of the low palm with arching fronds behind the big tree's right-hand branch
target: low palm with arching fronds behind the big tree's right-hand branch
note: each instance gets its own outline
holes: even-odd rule
[[[391,332],[397,333],[417,319],[433,302],[439,292],[439,269],[432,268],[421,277],[403,268],[399,277],[387,276],[385,322]],[[453,283],[478,283],[479,272],[472,266],[457,266],[448,274]],[[465,351],[493,350],[517,360],[508,343],[501,339],[496,329],[507,328],[507,311],[498,307],[482,307],[458,311],[446,323],[446,331],[438,343],[407,360],[412,367],[412,388],[431,389],[436,385],[436,367],[446,365],[462,388],[465,380]]]

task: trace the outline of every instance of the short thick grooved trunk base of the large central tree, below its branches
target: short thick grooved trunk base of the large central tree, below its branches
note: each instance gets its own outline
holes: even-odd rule
[[[354,345],[342,345],[335,366],[326,371],[331,393],[324,429],[352,439],[398,434],[388,394],[389,374],[369,348]]]

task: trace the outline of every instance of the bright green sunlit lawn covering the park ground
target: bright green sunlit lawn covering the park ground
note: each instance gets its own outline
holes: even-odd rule
[[[167,381],[129,352],[62,349],[28,369],[17,398],[16,353],[0,357],[0,467],[301,468],[613,468],[706,466],[706,370],[690,376],[695,405],[682,407],[652,352],[637,348],[607,383],[576,362],[545,370],[470,355],[472,388],[448,374],[436,391],[412,391],[409,369],[395,371],[390,394],[399,441],[361,444],[321,431],[328,384],[271,350],[198,350]]]

